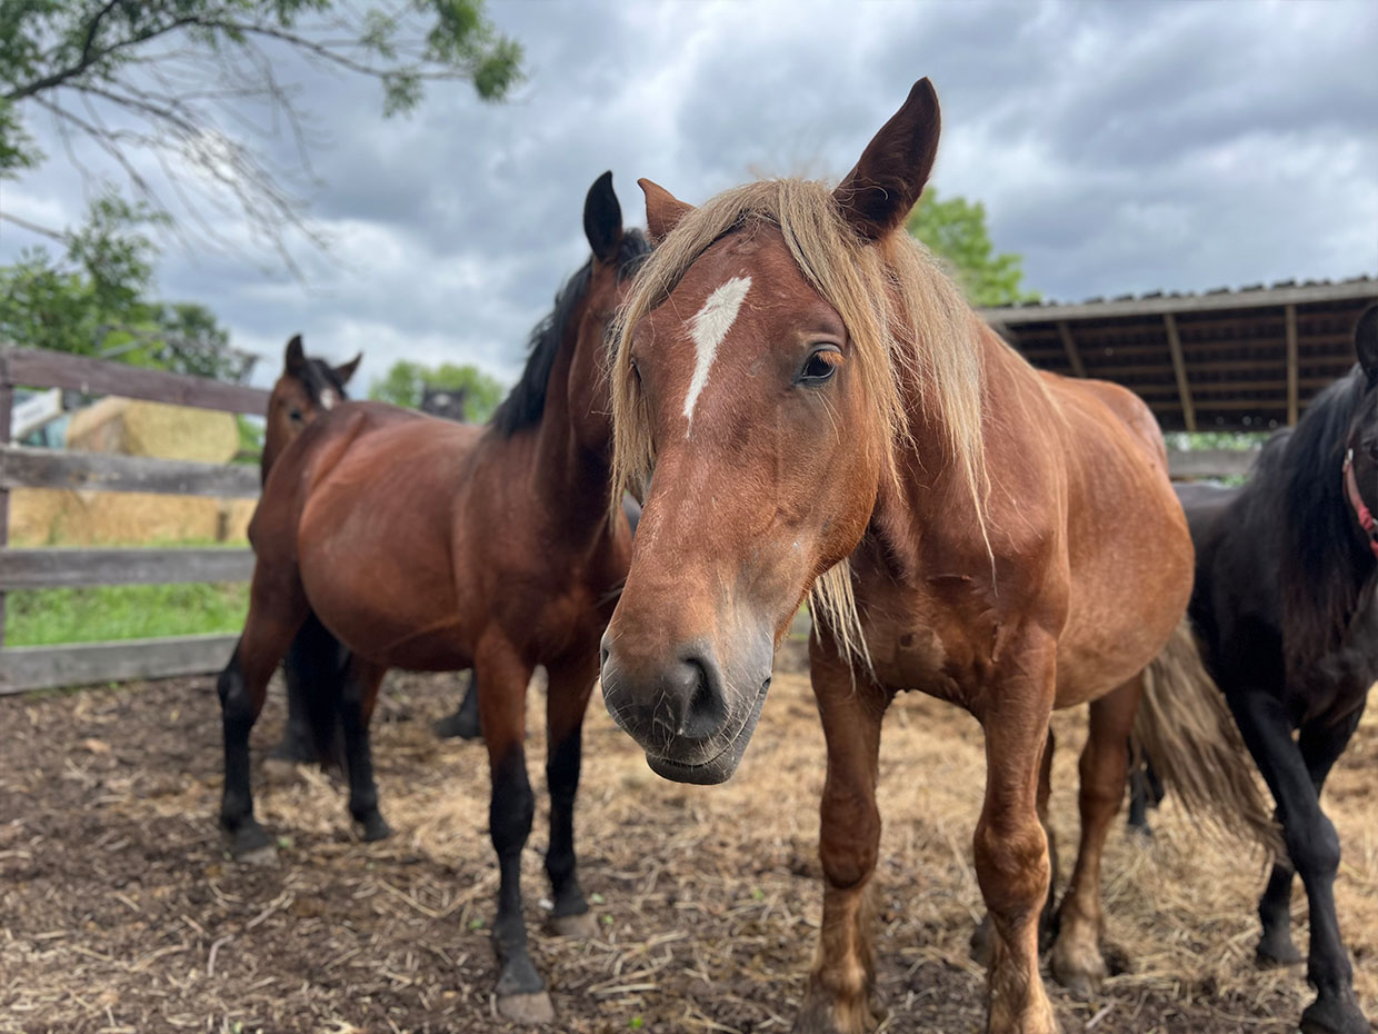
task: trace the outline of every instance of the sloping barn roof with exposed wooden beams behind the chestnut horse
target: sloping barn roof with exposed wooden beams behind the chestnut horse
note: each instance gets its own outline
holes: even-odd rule
[[[1353,365],[1374,301],[1378,280],[1361,276],[981,313],[1034,365],[1137,392],[1164,430],[1268,430]]]

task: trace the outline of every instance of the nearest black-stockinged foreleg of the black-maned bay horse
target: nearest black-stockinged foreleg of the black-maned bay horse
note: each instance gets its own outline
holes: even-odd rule
[[[500,637],[485,638],[474,658],[474,677],[480,685],[478,711],[492,776],[488,827],[499,870],[497,918],[493,921],[493,950],[499,965],[497,1012],[510,1020],[548,1023],[554,1020],[555,1011],[526,950],[521,904],[521,852],[536,811],[524,747],[531,671],[531,665]]]

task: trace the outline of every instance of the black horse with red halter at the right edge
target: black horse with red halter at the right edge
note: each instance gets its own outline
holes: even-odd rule
[[[1178,489],[1196,545],[1188,614],[1202,663],[1273,793],[1287,848],[1258,903],[1261,964],[1301,961],[1293,875],[1306,888],[1308,1034],[1370,1030],[1335,918],[1339,840],[1320,791],[1378,680],[1378,305],[1359,318],[1355,347],[1355,369],[1269,438],[1247,484]]]

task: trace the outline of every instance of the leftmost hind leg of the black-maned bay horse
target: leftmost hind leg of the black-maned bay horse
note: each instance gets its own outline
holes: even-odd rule
[[[306,612],[306,596],[296,572],[267,572],[260,562],[254,571],[244,634],[216,681],[225,732],[220,826],[230,837],[232,855],[241,862],[267,860],[273,853],[273,842],[254,818],[249,732],[263,710],[267,681]]]

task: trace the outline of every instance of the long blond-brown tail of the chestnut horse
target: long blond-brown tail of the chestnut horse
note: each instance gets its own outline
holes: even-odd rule
[[[1134,756],[1148,760],[1192,818],[1273,853],[1282,851],[1254,761],[1225,695],[1206,673],[1186,616],[1144,670],[1131,742]]]

